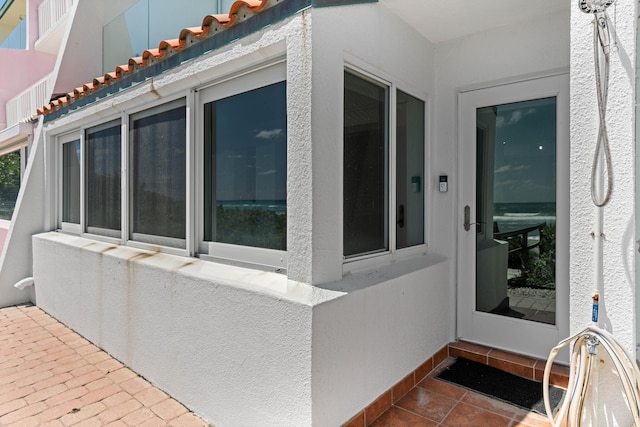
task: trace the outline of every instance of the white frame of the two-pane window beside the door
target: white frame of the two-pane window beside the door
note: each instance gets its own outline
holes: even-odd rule
[[[429,96],[420,89],[413,87],[405,82],[398,81],[391,75],[384,73],[383,71],[373,69],[373,67],[363,64],[362,61],[358,61],[352,58],[350,62],[346,62],[343,69],[344,73],[350,73],[356,77],[362,78],[366,81],[372,82],[376,85],[385,87],[387,90],[387,105],[386,122],[388,123],[386,129],[386,137],[388,139],[387,144],[387,210],[388,218],[385,227],[388,230],[388,249],[384,251],[376,251],[374,253],[355,254],[350,256],[344,255],[344,236],[342,240],[343,248],[343,274],[348,274],[352,271],[369,269],[379,266],[380,263],[391,263],[393,261],[413,258],[419,255],[425,255],[428,247],[428,234],[429,234],[429,199],[431,195],[431,179],[430,179],[430,165],[428,163],[429,155],[429,135],[430,135],[430,122],[429,122]],[[344,78],[343,78],[343,90],[344,96]],[[397,248],[397,99],[398,92],[403,92],[423,103],[424,117],[423,117],[423,179],[422,179],[422,191],[423,197],[423,243],[414,246],[408,246],[405,248]],[[342,99],[342,117],[344,119],[344,98]],[[342,123],[342,133],[344,136],[344,123]],[[342,153],[344,153],[344,140],[342,144]],[[344,155],[344,154],[342,154]],[[342,159],[341,173],[343,177],[343,191],[344,191],[344,158]],[[341,202],[343,203],[343,202]],[[344,205],[342,206],[341,218],[344,221]]]

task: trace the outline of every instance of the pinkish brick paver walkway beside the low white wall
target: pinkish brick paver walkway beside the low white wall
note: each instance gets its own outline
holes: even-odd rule
[[[0,309],[0,426],[207,426],[35,306]]]

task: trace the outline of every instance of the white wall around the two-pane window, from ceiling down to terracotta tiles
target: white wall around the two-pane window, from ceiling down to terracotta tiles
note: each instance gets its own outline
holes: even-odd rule
[[[349,290],[313,317],[314,425],[338,425],[453,339],[447,219],[431,162],[434,50],[383,3],[313,10],[313,283]],[[426,101],[425,198],[428,255],[342,280],[342,134],[345,67]],[[393,108],[393,107],[392,107]],[[449,239],[451,236],[448,237]],[[347,266],[345,270],[350,267]],[[326,284],[329,282],[329,284]]]

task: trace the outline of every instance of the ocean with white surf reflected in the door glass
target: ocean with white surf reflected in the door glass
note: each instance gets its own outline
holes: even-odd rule
[[[555,225],[556,204],[545,203],[495,203],[493,220],[501,233],[531,227],[541,223]]]

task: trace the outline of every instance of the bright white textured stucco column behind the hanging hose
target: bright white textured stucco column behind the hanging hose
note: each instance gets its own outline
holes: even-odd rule
[[[591,200],[591,169],[599,129],[593,14],[571,11],[570,329],[591,323],[591,296],[600,293],[599,325],[630,352],[635,348],[634,113],[636,3],[607,9],[611,55],[606,123],[613,193],[603,208]],[[606,82],[603,82],[606,83]],[[597,174],[606,182],[606,170]],[[604,186],[604,185],[603,185]]]

